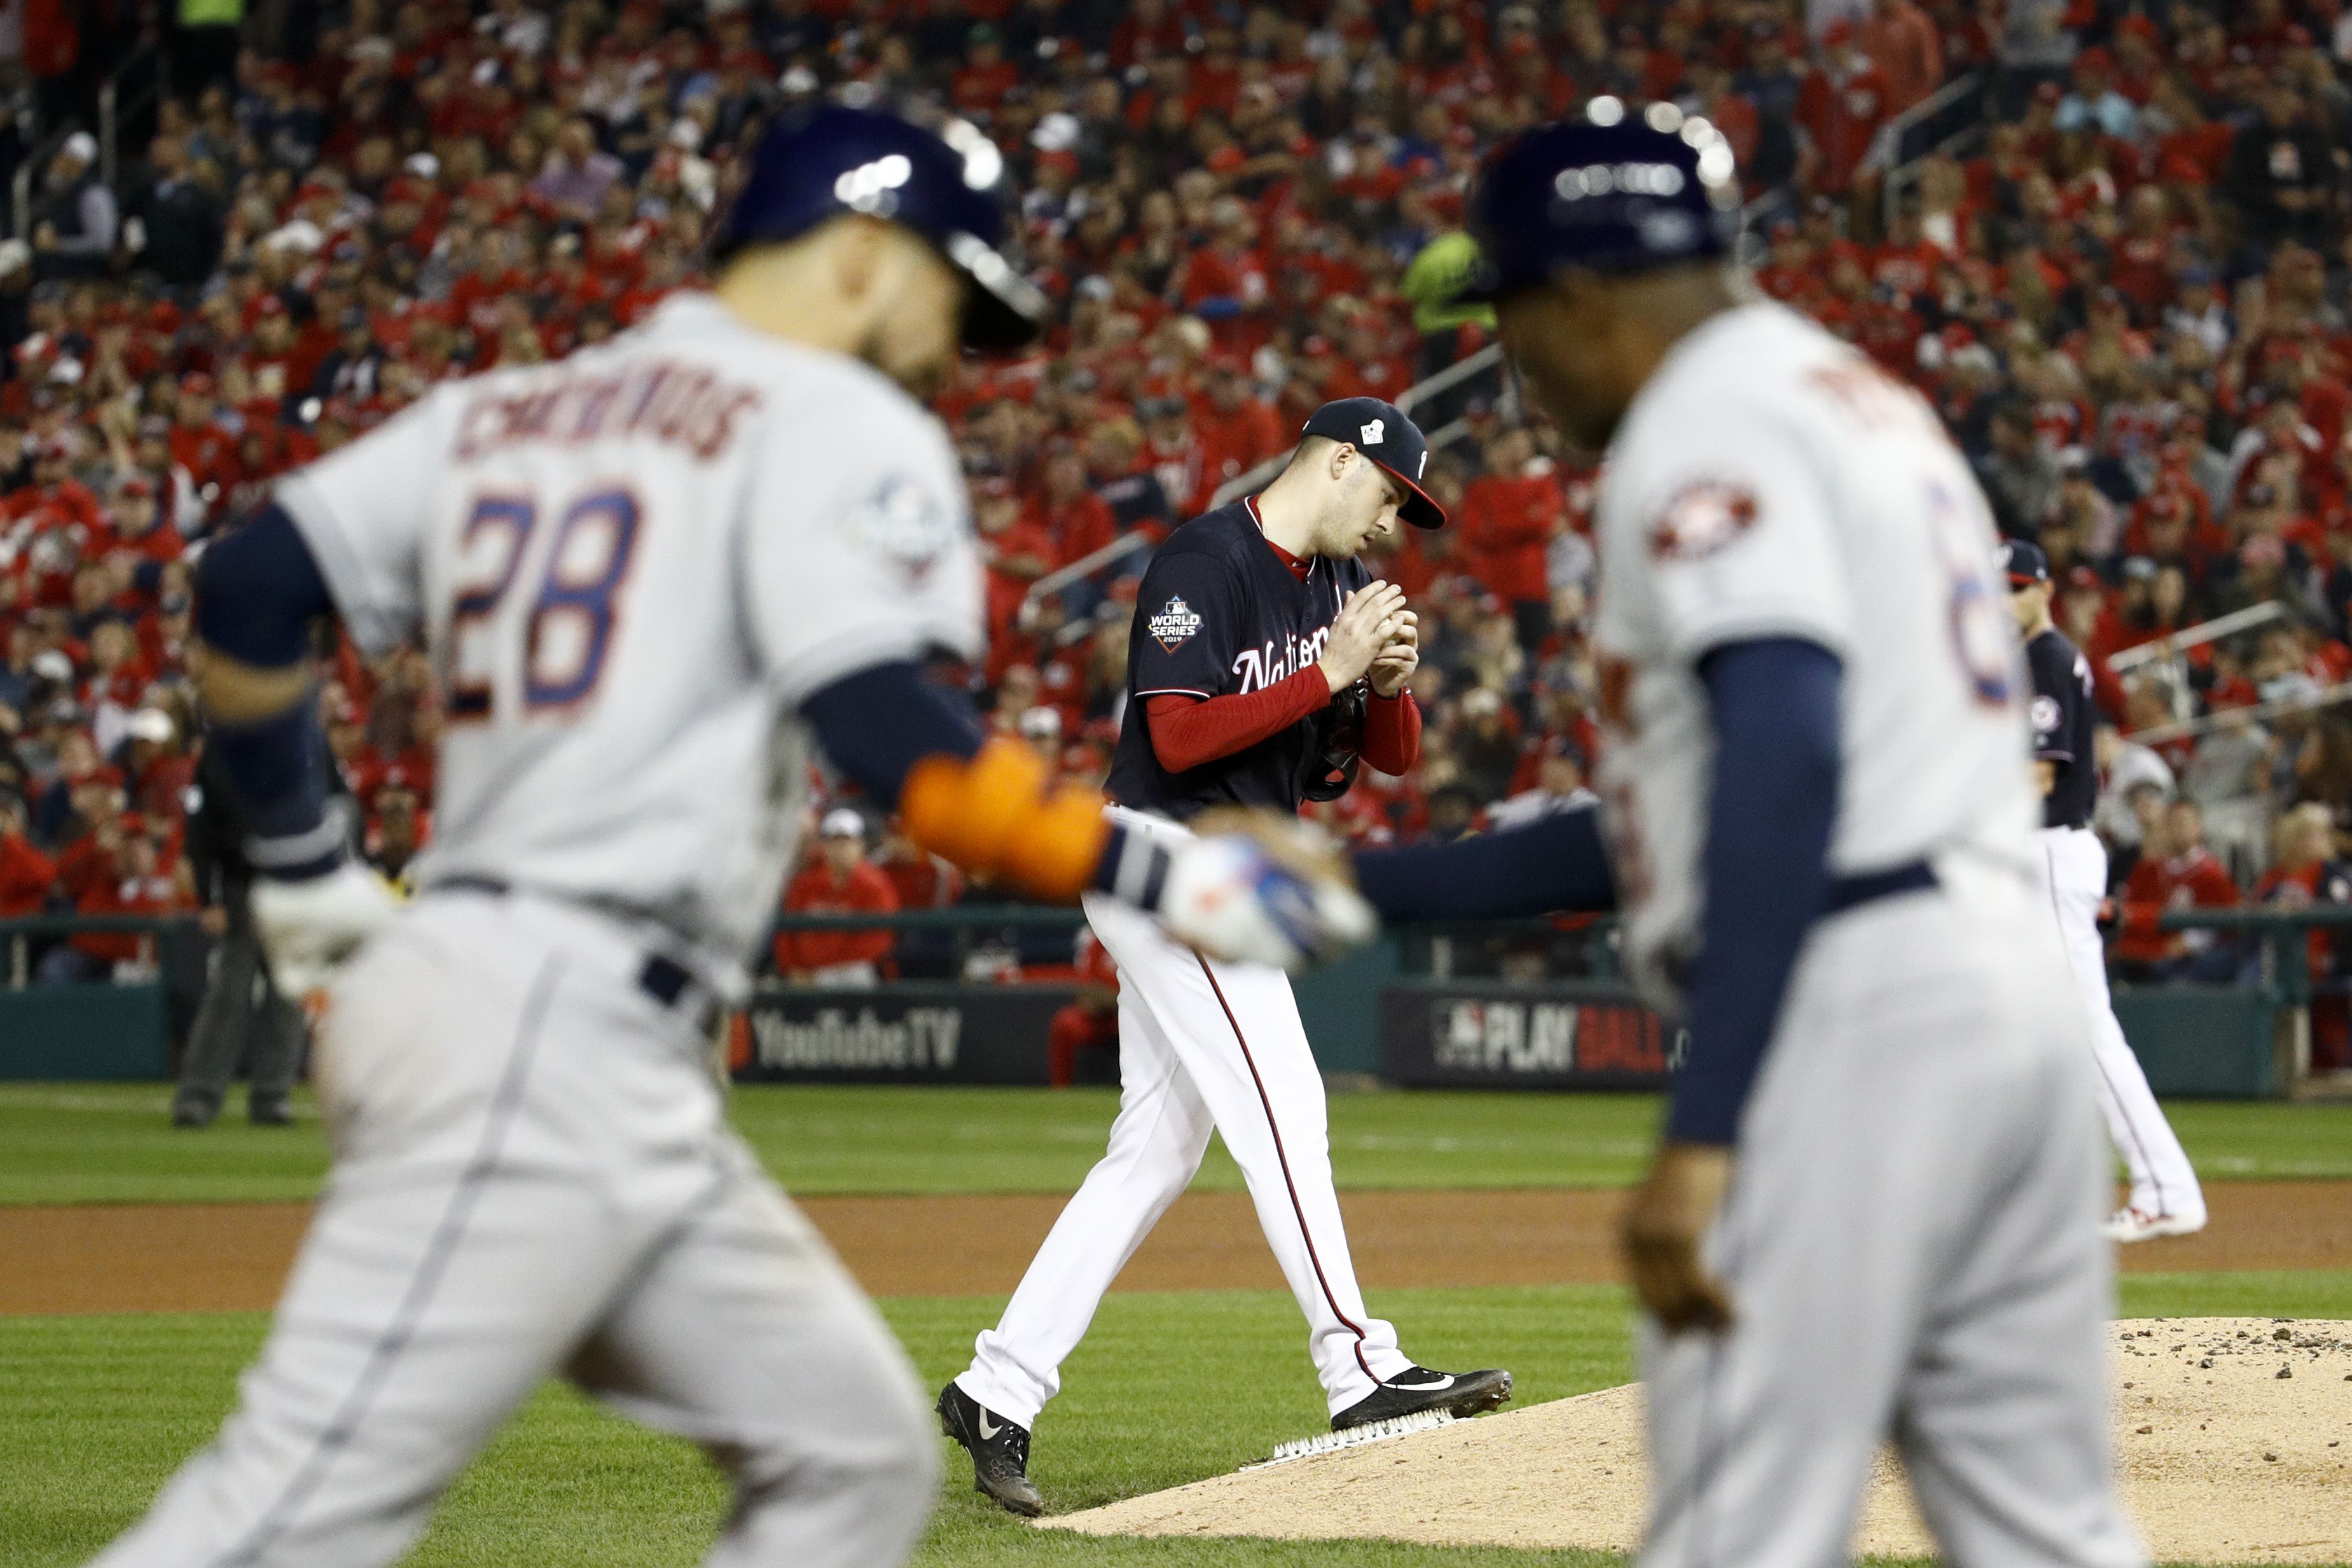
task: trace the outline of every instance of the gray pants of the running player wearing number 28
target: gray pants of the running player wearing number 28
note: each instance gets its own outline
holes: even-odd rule
[[[729,1474],[722,1568],[906,1559],[913,1368],[727,1131],[616,924],[421,898],[334,990],[334,1178],[219,1439],[99,1568],[369,1568],[564,1373]]]

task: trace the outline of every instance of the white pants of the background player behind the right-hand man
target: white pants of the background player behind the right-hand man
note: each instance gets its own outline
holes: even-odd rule
[[[2173,1135],[2164,1107],[2147,1088],[2140,1058],[2114,1020],[2107,994],[2107,945],[2098,936],[2098,905],[2107,898],[2107,846],[2089,827],[2044,827],[2034,835],[2042,851],[2039,879],[2065,940],[2067,969],[2082,1006],[2091,1018],[2091,1060],[2098,1065],[2093,1088],[2107,1119],[2107,1138],[2124,1168],[2131,1171],[2131,1206],[2150,1215],[2204,1218],[2204,1187],[2190,1166],[2187,1150]]]

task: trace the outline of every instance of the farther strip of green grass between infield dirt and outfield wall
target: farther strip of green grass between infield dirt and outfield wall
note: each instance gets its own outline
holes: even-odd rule
[[[153,1084],[0,1084],[0,1204],[263,1204],[318,1192],[327,1145],[223,1117],[167,1126]],[[235,1100],[242,1110],[242,1100]],[[790,1192],[1075,1192],[1117,1110],[1108,1088],[743,1088],[731,1114]],[[2352,1180],[2352,1103],[2166,1107],[2220,1180]],[[1616,1187],[1658,1124],[1651,1095],[1355,1093],[1331,1098],[1343,1187]],[[1237,1192],[1211,1147],[1200,1187]]]

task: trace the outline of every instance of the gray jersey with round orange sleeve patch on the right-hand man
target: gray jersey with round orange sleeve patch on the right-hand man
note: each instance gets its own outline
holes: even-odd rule
[[[1628,409],[1597,515],[1599,788],[1656,999],[1705,900],[1710,649],[1804,637],[1844,663],[1832,875],[2027,865],[2032,691],[1985,498],[1917,393],[1783,306],[1729,310]]]

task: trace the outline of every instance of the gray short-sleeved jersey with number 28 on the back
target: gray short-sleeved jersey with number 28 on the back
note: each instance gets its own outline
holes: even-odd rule
[[[452,875],[654,919],[741,964],[800,832],[797,703],[981,651],[955,451],[877,371],[713,299],[437,388],[289,475],[362,651],[421,637]]]

